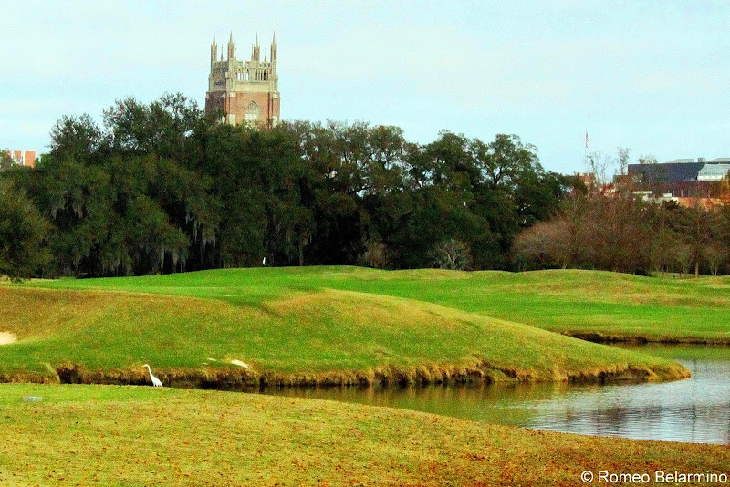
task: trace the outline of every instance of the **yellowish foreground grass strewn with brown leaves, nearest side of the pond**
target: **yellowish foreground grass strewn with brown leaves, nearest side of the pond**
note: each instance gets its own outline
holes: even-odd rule
[[[23,402],[24,396],[41,402]],[[726,472],[725,446],[591,438],[189,389],[0,386],[3,485],[581,485]]]

